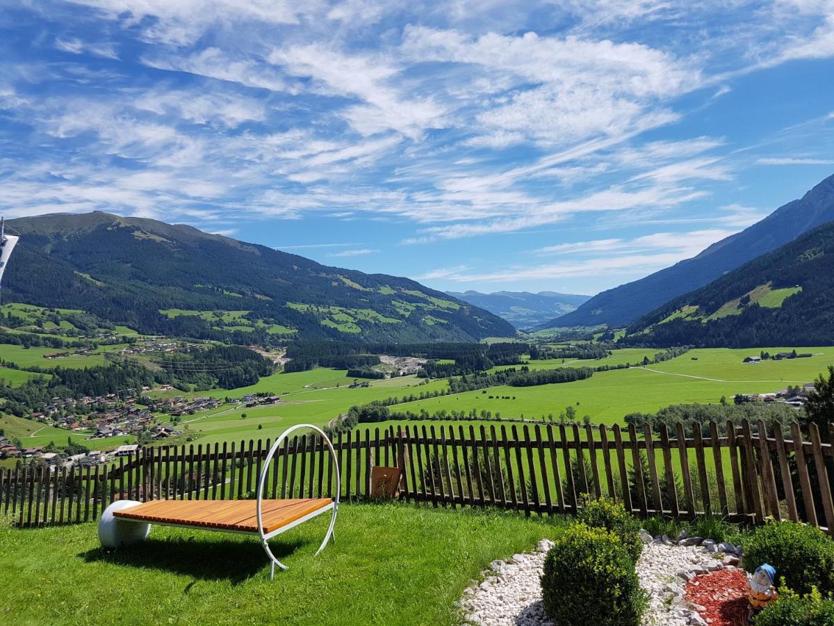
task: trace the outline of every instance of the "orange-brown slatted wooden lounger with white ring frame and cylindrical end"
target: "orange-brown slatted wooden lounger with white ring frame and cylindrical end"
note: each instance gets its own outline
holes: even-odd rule
[[[269,464],[290,432],[310,428],[319,432],[329,447],[336,473],[336,497],[286,498],[264,500],[264,486],[269,477]],[[257,535],[270,561],[270,578],[274,577],[275,565],[286,569],[284,563],[275,558],[269,549],[269,539],[288,531],[301,523],[331,511],[330,525],[319,547],[320,553],[334,537],[336,515],[339,512],[339,466],[333,443],[319,427],[299,424],[288,428],[270,448],[258,482],[258,497],[255,500],[154,500],[133,502],[118,500],[103,513],[98,522],[98,538],[105,548],[119,548],[137,543],[148,537],[151,524],[198,528],[224,533]]]

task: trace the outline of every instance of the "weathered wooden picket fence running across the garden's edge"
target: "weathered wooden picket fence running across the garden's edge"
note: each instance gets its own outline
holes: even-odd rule
[[[658,432],[515,424],[393,427],[340,434],[334,442],[343,501],[372,496],[374,466],[399,467],[400,499],[435,507],[501,507],[527,514],[575,513],[590,497],[613,497],[642,517],[716,515],[741,523],[766,517],[834,528],[834,451],[811,424],[790,439],[763,422],[741,427],[679,423]],[[706,433],[706,434],[705,434]],[[723,433],[723,434],[721,434]],[[828,441],[834,441],[834,428]],[[69,472],[0,470],[0,512],[22,527],[98,519],[118,499],[254,497],[270,442],[145,447],[130,457]],[[332,497],[334,462],[320,437],[284,441],[268,497]]]

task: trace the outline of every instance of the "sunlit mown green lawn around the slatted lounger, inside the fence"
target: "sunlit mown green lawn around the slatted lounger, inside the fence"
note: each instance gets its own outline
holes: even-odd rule
[[[289,570],[269,580],[258,542],[153,528],[118,552],[93,523],[0,527],[3,623],[453,624],[470,578],[495,558],[555,538],[560,519],[403,504],[339,510],[337,541],[314,557],[327,520],[273,540]]]

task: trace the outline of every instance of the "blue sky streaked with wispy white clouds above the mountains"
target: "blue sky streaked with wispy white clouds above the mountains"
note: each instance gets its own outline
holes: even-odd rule
[[[593,294],[834,172],[834,0],[0,0],[0,213]]]

